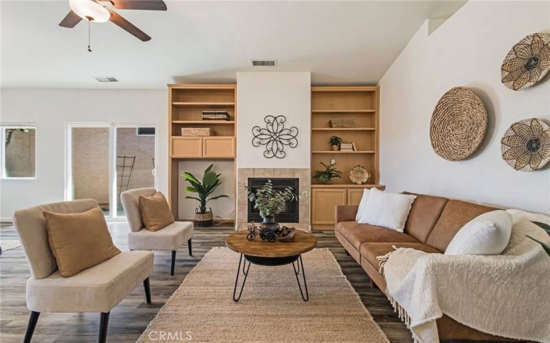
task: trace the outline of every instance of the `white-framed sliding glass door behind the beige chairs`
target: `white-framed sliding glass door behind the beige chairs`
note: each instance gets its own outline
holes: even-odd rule
[[[106,217],[124,217],[120,193],[155,187],[155,128],[111,123],[67,125],[67,200],[95,199]]]

